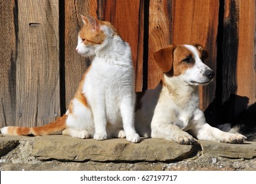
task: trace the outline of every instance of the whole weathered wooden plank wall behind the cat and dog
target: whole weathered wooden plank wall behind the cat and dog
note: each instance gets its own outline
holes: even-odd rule
[[[61,116],[90,64],[76,53],[80,14],[111,21],[132,48],[136,91],[161,72],[153,52],[200,43],[215,80],[201,108],[234,118],[256,101],[255,0],[0,0],[0,127],[41,126]],[[231,104],[228,107],[224,104]]]

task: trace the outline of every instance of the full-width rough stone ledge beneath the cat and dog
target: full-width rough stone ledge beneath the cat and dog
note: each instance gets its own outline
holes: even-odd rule
[[[255,142],[179,145],[142,139],[135,144],[64,135],[5,136],[0,150],[0,170],[256,170]]]

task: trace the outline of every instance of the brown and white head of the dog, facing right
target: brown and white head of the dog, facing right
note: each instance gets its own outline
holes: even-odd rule
[[[208,57],[205,48],[192,45],[168,45],[154,53],[155,62],[170,77],[178,77],[190,85],[206,85],[215,73],[203,63]]]

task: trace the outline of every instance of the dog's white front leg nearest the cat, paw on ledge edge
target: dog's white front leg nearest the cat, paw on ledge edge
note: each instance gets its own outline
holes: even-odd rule
[[[192,145],[194,142],[193,137],[186,131],[182,131],[180,127],[158,122],[157,124],[151,125],[151,137],[156,139],[167,139],[175,141],[181,145]]]

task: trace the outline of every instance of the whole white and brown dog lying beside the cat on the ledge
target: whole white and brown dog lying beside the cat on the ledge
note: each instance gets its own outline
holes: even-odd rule
[[[137,94],[136,131],[142,137],[167,139],[191,145],[193,137],[223,143],[243,143],[241,134],[211,127],[199,109],[198,85],[206,85],[215,73],[203,60],[207,51],[199,45],[169,45],[154,53],[163,78],[155,89]]]

